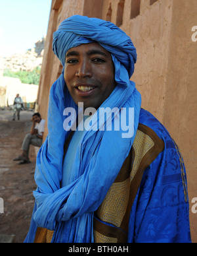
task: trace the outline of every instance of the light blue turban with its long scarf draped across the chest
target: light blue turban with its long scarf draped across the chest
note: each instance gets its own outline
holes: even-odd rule
[[[33,242],[37,227],[55,230],[52,242],[93,242],[93,214],[118,176],[135,139],[141,94],[129,80],[137,59],[129,36],[111,22],[75,15],[64,20],[53,34],[53,51],[64,67],[68,49],[91,42],[98,42],[112,54],[115,67],[117,86],[100,107],[134,108],[133,137],[122,138],[121,129],[85,131],[76,149],[68,185],[61,187],[64,141],[70,133],[63,127],[63,113],[65,108],[78,111],[63,69],[49,96],[49,134],[37,155],[35,207],[26,242]],[[99,115],[93,116],[93,125],[98,118]]]

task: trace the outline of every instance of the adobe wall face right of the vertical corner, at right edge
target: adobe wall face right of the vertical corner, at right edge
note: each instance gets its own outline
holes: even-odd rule
[[[185,161],[190,202],[197,197],[197,42],[191,39],[196,16],[197,1],[174,0],[164,106],[164,125]],[[197,241],[197,214],[190,212],[190,221]]]

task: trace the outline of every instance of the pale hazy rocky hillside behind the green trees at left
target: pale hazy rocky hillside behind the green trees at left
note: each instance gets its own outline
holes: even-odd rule
[[[36,67],[41,67],[45,47],[45,37],[35,43],[35,48],[28,49],[26,53],[16,53],[11,57],[5,57],[4,69],[11,71],[33,71]]]

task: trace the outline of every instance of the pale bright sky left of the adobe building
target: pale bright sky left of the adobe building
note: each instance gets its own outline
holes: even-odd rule
[[[0,55],[34,48],[47,34],[52,0],[0,0]]]

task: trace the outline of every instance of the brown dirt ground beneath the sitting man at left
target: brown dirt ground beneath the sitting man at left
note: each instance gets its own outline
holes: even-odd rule
[[[30,164],[12,161],[20,154],[26,133],[30,132],[33,112],[22,111],[20,121],[12,121],[12,112],[0,110],[0,197],[4,213],[0,214],[0,235],[14,235],[22,243],[28,233],[34,205],[35,148],[30,146]]]

